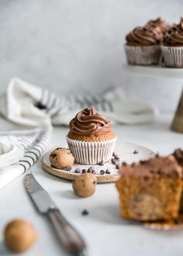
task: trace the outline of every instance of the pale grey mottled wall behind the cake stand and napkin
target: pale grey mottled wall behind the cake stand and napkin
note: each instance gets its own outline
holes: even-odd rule
[[[123,44],[134,26],[178,22],[182,9],[181,0],[0,0],[0,92],[12,76],[58,93],[122,86],[172,110],[183,81],[126,74]]]

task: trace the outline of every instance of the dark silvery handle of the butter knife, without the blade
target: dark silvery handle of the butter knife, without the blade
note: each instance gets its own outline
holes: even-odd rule
[[[52,223],[63,247],[71,254],[80,255],[86,248],[85,241],[58,209],[49,209],[46,214]]]

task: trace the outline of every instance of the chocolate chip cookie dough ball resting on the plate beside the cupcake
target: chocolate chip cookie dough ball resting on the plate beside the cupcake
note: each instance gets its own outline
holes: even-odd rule
[[[69,149],[57,147],[50,153],[50,163],[55,168],[67,168],[74,164],[74,156]]]

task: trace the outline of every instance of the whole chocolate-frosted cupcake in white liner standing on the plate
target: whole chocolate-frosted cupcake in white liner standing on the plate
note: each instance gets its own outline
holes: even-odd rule
[[[116,142],[112,124],[94,108],[83,109],[71,119],[67,144],[75,161],[80,164],[98,164],[109,161]]]

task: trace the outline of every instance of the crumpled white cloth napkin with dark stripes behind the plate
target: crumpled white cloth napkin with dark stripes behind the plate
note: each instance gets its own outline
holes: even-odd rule
[[[78,111],[89,106],[95,106],[112,123],[147,123],[157,115],[154,107],[125,99],[120,88],[99,96],[59,98],[48,90],[12,78],[7,92],[0,95],[0,113],[17,129],[20,125],[23,129],[0,132],[0,189],[27,171],[47,150],[52,125],[68,125]]]

